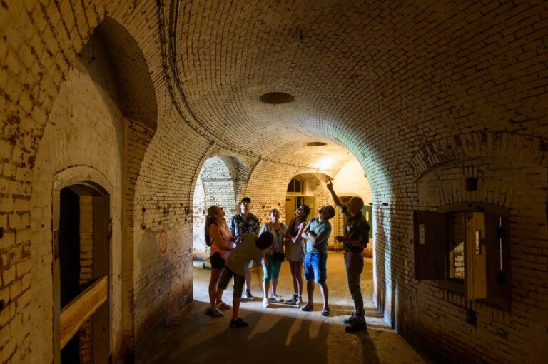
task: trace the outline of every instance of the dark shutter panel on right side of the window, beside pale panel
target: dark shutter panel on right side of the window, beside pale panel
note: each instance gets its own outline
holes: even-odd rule
[[[507,308],[510,292],[508,217],[485,214],[487,230],[487,297]]]

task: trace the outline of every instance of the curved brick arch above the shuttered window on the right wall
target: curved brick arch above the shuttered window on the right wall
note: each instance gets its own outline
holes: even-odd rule
[[[502,158],[534,166],[548,166],[548,141],[504,131],[480,131],[425,144],[412,156],[409,169],[416,179],[443,163],[478,157]]]

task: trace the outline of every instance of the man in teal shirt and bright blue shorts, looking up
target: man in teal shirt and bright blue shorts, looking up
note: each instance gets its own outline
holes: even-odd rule
[[[308,222],[303,231],[303,238],[306,239],[305,254],[305,280],[308,303],[300,309],[311,311],[314,309],[314,281],[320,285],[323,299],[322,315],[329,315],[329,292],[325,284],[327,277],[326,263],[328,261],[328,240],[331,235],[330,218],[335,216],[333,206],[324,206],[318,211],[318,217]]]

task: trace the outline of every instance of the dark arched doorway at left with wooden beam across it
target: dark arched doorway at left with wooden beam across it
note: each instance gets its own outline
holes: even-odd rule
[[[110,226],[110,196],[101,186],[81,182],[59,191],[54,363],[108,363]]]

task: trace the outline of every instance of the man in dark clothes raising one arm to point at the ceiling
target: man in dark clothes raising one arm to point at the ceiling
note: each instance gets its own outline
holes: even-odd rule
[[[369,242],[370,226],[362,214],[363,200],[359,197],[352,197],[348,201],[348,205],[343,205],[335,191],[333,191],[331,181],[328,182],[327,187],[331,192],[335,205],[346,217],[344,236],[335,236],[335,239],[340,243],[344,243],[345,246],[346,280],[348,290],[350,290],[352,300],[354,300],[354,313],[344,320],[346,324],[350,324],[350,326],[347,326],[346,331],[367,330],[360,277],[363,271],[363,249],[367,248]]]

